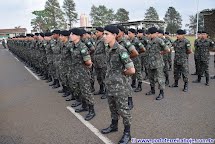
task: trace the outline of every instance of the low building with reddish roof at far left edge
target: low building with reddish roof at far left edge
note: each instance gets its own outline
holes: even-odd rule
[[[0,39],[6,39],[8,37],[14,37],[18,35],[25,35],[26,32],[26,28],[0,29]]]

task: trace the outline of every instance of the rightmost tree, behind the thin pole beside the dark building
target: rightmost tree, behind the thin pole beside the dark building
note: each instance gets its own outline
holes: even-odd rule
[[[192,33],[196,32],[197,28],[197,14],[191,15],[190,17],[190,24],[186,24],[186,26],[189,27],[190,31]],[[199,24],[198,24],[198,30],[204,30],[204,17],[203,14],[199,13]]]

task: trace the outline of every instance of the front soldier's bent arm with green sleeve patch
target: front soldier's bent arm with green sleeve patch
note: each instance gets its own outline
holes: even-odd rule
[[[135,68],[132,60],[129,58],[127,51],[121,51],[120,59],[123,63],[125,70],[123,71],[124,75],[133,75],[135,74]]]

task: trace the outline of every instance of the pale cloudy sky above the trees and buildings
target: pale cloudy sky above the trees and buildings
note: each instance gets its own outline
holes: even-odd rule
[[[62,6],[63,0],[58,1]],[[199,10],[215,8],[215,0],[74,0],[79,16],[82,13],[89,15],[90,8],[94,4],[105,5],[115,11],[118,8],[125,8],[130,12],[130,20],[142,20],[146,9],[150,6],[155,7],[160,19],[163,19],[168,7],[173,6],[182,15],[183,28],[189,23],[189,15],[196,13],[197,1],[199,1]],[[45,2],[46,0],[1,0],[0,29],[21,26],[30,31],[30,22],[34,18],[31,12],[42,10]]]

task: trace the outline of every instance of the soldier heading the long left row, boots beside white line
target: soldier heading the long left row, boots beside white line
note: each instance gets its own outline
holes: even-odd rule
[[[81,42],[82,31],[78,28],[70,30],[71,43],[68,45],[70,49],[69,64],[69,86],[74,92],[76,99],[82,101],[82,106],[77,108],[75,112],[83,112],[89,110],[85,120],[91,120],[96,114],[94,111],[94,98],[90,87],[89,69],[92,67],[92,61],[88,48]],[[72,104],[72,107],[80,105],[80,101]]]

